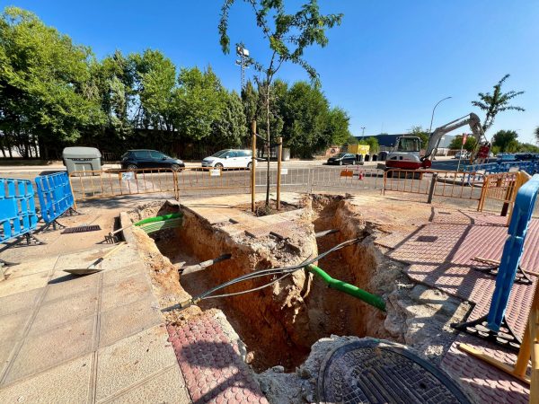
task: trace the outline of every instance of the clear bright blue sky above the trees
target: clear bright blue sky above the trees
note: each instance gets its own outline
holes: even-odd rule
[[[176,66],[211,66],[222,83],[239,91],[240,68],[224,55],[217,24],[222,0],[0,0],[36,13],[93,48],[96,57],[115,49],[130,53],[156,48]],[[287,1],[296,10],[302,2]],[[535,0],[319,0],[323,13],[344,13],[328,31],[325,48],[310,48],[307,61],[320,75],[332,106],[349,113],[352,134],[403,133],[413,126],[433,128],[476,112],[478,92],[506,74],[505,91],[525,93],[497,117],[488,136],[516,130],[521,142],[534,143],[539,126],[539,2]],[[243,41],[262,62],[269,50],[250,9],[237,1],[231,11],[232,43]],[[247,77],[252,77],[252,69]],[[278,78],[308,80],[299,66],[283,66]],[[463,133],[459,129],[452,135]]]

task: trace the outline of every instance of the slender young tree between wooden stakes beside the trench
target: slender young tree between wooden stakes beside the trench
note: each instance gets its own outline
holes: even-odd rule
[[[323,15],[318,2],[309,0],[296,13],[287,13],[284,0],[243,0],[252,7],[257,27],[262,31],[270,48],[270,61],[262,64],[260,60],[249,62],[259,72],[259,83],[263,88],[263,100],[266,110],[266,145],[268,154],[268,178],[266,188],[266,206],[270,205],[270,86],[280,66],[291,62],[302,66],[312,81],[319,82],[313,66],[304,57],[305,48],[314,44],[325,47],[328,39],[325,30],[340,24],[342,14]],[[225,0],[221,9],[218,30],[223,52],[230,51],[228,36],[228,16],[235,0]],[[243,43],[238,43],[243,47]]]

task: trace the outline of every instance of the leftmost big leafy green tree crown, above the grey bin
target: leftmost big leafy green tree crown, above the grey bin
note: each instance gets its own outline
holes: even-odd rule
[[[11,144],[20,136],[26,151],[37,141],[73,142],[104,120],[90,80],[90,48],[73,44],[33,13],[6,7],[0,49],[0,128]]]

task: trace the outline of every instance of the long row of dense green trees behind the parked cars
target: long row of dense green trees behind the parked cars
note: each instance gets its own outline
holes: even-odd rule
[[[316,16],[315,7],[304,10],[298,23],[308,25]],[[307,42],[324,42],[318,31],[309,36]],[[303,60],[299,53],[284,57]],[[73,43],[33,13],[6,7],[0,14],[4,156],[16,150],[23,157],[58,158],[67,145],[117,155],[137,147],[178,155],[188,146],[203,154],[245,146],[252,119],[261,123],[262,135],[267,131],[264,90],[263,81],[248,82],[240,96],[227,90],[210,66],[177,67],[155,49],[117,50],[99,60],[91,48]],[[348,115],[331,107],[320,88],[276,80],[270,93],[270,127],[285,137],[292,154],[310,155],[348,137]],[[314,122],[292,113],[292,104]]]

